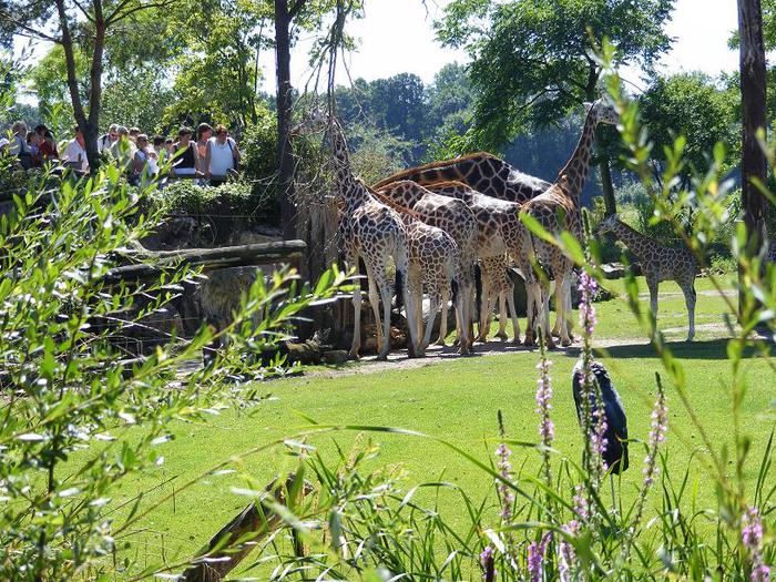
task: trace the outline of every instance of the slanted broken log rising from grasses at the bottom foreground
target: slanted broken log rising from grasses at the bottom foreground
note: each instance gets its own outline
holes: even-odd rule
[[[286,504],[286,494],[293,489],[296,477],[292,473],[279,484],[277,479],[266,487],[278,503]],[[298,497],[313,492],[313,487],[305,481],[299,488]],[[298,500],[297,500],[298,501]],[[259,501],[251,503],[218,533],[192,560],[192,565],[183,572],[183,582],[218,582],[234,570],[258,542],[279,528],[283,520],[272,509]]]

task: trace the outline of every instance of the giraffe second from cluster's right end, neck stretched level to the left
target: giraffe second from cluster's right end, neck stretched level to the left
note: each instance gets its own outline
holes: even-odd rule
[[[481,341],[487,339],[488,324],[490,321],[490,297],[492,292],[496,292],[499,295],[507,295],[507,304],[509,305],[514,329],[514,341],[519,343],[520,324],[518,321],[518,312],[514,307],[513,285],[511,280],[504,279],[508,279],[508,257],[515,262],[518,268],[523,273],[525,268],[530,267],[524,259],[523,246],[528,231],[520,221],[520,204],[487,196],[460,182],[438,182],[427,184],[426,187],[431,192],[466,202],[477,217],[479,228],[477,255],[480,261],[486,258],[493,259],[489,261],[487,267],[482,269],[483,300],[480,305],[479,339]],[[491,273],[496,269],[499,273],[493,275],[493,280],[490,280]],[[529,298],[529,304],[530,300]],[[507,318],[503,312],[502,309],[502,320],[506,321]],[[529,310],[530,313],[531,310]]]

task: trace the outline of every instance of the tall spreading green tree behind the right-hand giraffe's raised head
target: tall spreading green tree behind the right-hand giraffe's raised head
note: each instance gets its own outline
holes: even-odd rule
[[[615,48],[614,64],[651,70],[671,47],[663,24],[672,8],[673,0],[453,0],[438,22],[438,35],[472,58],[470,147],[501,147],[598,98],[602,68],[594,51],[604,37]],[[605,160],[601,169],[613,212]]]

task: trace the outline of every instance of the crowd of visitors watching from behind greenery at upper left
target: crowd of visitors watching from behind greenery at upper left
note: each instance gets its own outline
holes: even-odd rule
[[[100,156],[116,161],[137,184],[157,176],[170,160],[172,165],[164,177],[191,177],[217,185],[236,173],[239,149],[224,125],[212,127],[201,123],[196,141],[194,131],[182,126],[176,137],[154,135],[149,139],[139,127],[113,123],[108,133],[98,139],[96,149]],[[62,163],[72,170],[89,172],[86,145],[78,125],[60,155],[54,136],[45,125],[28,131],[24,122],[16,122],[7,136],[0,135],[0,155],[3,154],[16,157],[24,169]]]

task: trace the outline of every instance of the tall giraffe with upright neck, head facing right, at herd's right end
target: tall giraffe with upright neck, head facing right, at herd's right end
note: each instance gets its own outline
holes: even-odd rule
[[[614,124],[620,119],[616,111],[603,100],[584,105],[588,113],[582,126],[582,135],[571,157],[559,172],[555,182],[542,194],[525,202],[522,207],[525,214],[538,221],[549,233],[558,235],[562,231],[568,231],[576,239],[580,239],[582,234],[580,197],[590,170],[595,127],[599,123]],[[527,256],[531,259],[538,258],[543,266],[552,269],[555,279],[555,318],[560,321],[561,345],[570,346],[571,272],[574,264],[557,245],[542,238],[529,236],[524,238],[523,244]],[[525,273],[525,277],[527,294],[533,297],[533,305],[545,305],[549,287],[540,282],[533,269]],[[540,308],[537,313],[548,347],[554,347],[547,310]],[[529,321],[532,321],[532,314],[529,314]],[[534,333],[534,326],[530,325],[525,331],[525,345],[535,344]]]

